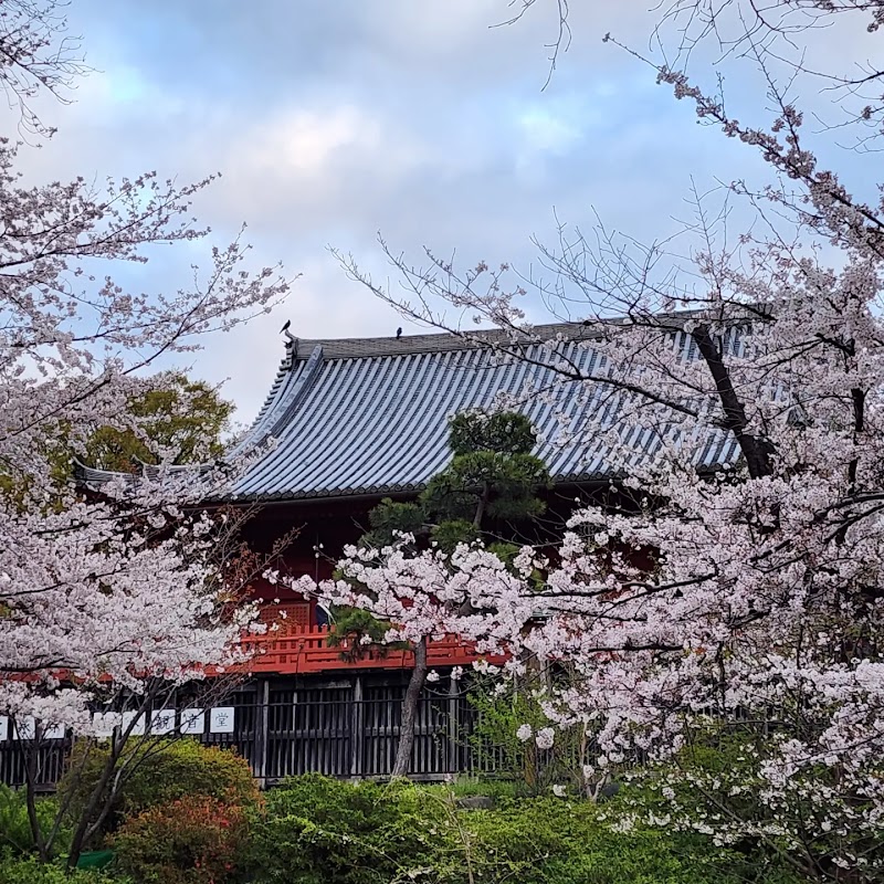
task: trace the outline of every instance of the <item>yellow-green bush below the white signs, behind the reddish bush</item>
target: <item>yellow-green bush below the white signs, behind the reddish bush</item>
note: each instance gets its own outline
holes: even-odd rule
[[[71,796],[70,813],[78,818],[107,762],[109,748],[83,740],[71,755],[59,783],[60,800]],[[126,817],[176,799],[206,796],[230,804],[250,806],[259,799],[257,783],[244,758],[192,739],[129,740],[120,766],[131,775],[114,803],[105,825],[116,831]]]

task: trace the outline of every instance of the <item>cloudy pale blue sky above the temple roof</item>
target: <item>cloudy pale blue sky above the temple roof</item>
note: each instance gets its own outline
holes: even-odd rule
[[[688,214],[692,181],[764,176],[751,150],[698,126],[653,71],[602,42],[612,32],[646,50],[654,2],[571,6],[572,41],[545,87],[548,0],[497,28],[508,0],[73,0],[71,31],[94,70],[70,105],[40,103],[59,131],[28,152],[27,172],[221,172],[196,204],[213,231],[203,253],[245,222],[255,265],[298,275],[285,304],[185,364],[224,381],[249,421],[285,320],[305,338],[421,330],[349,281],[329,246],[393,286],[378,232],[412,263],[427,246],[527,272],[532,238],[551,240],[557,218],[650,241]],[[844,44],[828,34],[822,51]],[[757,84],[728,76],[728,99],[748,102]],[[200,257],[154,255],[137,283],[177,288]]]

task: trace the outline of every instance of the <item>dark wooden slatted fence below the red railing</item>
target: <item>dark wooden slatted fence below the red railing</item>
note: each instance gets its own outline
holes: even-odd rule
[[[207,726],[196,738],[235,749],[266,785],[307,772],[383,777],[392,769],[399,744],[403,693],[403,684],[371,684],[362,678],[302,687],[265,681],[219,704],[233,709],[231,733],[211,733]],[[475,723],[476,712],[459,683],[428,690],[418,711],[412,777],[439,780],[493,769],[495,751],[476,745]],[[24,753],[36,751],[38,781],[51,789],[63,770],[70,737],[34,747],[9,736],[0,743],[0,780],[23,783]]]

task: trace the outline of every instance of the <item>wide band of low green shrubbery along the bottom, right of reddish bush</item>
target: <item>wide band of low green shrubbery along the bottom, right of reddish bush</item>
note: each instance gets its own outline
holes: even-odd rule
[[[501,790],[494,809],[463,810],[456,791],[293,778],[269,793],[266,817],[256,824],[254,881],[798,884],[774,863],[757,877],[757,857],[696,834],[614,831],[589,801],[513,799]]]

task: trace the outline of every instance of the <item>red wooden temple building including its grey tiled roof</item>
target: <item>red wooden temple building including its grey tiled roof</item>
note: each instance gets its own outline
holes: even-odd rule
[[[365,532],[369,509],[382,497],[414,496],[446,465],[449,417],[499,402],[532,419],[540,440],[535,453],[554,478],[548,518],[525,537],[543,543],[577,498],[602,499],[617,478],[606,443],[587,439],[580,429],[590,418],[613,422],[620,393],[603,383],[564,381],[552,367],[565,358],[581,377],[604,371],[579,329],[533,330],[535,340],[561,335],[568,341],[557,345],[555,356],[548,347],[502,333],[483,333],[481,344],[439,334],[340,340],[287,336],[280,370],[239,450],[271,440],[275,446],[225,499],[260,505],[248,527],[250,546],[270,550],[276,538],[298,528],[282,567],[293,575],[329,577],[344,545]],[[633,456],[646,457],[659,442],[653,431],[639,428],[622,444]],[[725,434],[711,434],[701,465],[730,461],[732,444]],[[93,487],[108,477],[82,472]],[[236,701],[231,739],[269,780],[309,769],[351,776],[389,770],[410,655],[393,651],[347,662],[328,645],[326,618],[315,602],[269,585],[253,591],[280,628],[250,640],[252,678]],[[283,621],[276,617],[281,608],[287,614]],[[470,649],[454,640],[430,650],[430,664],[442,678],[428,691],[421,713],[413,758],[419,775],[477,764],[457,736],[472,713],[460,685],[445,677],[472,660]]]

